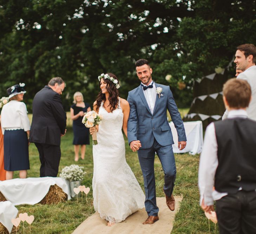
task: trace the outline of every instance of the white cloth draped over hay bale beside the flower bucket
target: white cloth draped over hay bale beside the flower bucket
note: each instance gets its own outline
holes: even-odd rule
[[[51,185],[58,185],[70,197],[70,188],[67,180],[60,177],[39,177],[27,179],[12,179],[0,181],[0,192],[13,205],[34,205],[40,202],[48,193]]]

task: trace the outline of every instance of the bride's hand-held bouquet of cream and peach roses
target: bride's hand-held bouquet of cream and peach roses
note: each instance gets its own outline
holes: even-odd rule
[[[99,125],[101,123],[101,120],[103,120],[101,115],[97,114],[95,111],[88,111],[85,113],[82,123],[84,123],[85,127],[91,128]],[[96,131],[92,134],[92,141],[93,145],[98,145]]]

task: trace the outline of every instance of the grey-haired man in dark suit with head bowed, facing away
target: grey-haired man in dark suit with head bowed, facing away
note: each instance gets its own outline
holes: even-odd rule
[[[48,85],[35,94],[30,142],[34,142],[41,162],[40,177],[56,177],[60,163],[60,137],[66,133],[66,112],[60,95],[65,82],[60,77],[52,78]]]

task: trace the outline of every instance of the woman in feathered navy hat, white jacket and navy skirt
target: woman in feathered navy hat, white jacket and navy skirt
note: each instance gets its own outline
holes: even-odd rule
[[[7,89],[9,102],[1,111],[1,128],[4,134],[4,165],[6,180],[13,179],[13,172],[20,171],[20,178],[27,177],[29,169],[28,138],[30,123],[23,100],[24,83]]]

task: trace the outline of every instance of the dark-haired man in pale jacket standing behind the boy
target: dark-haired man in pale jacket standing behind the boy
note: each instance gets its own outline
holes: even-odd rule
[[[237,79],[246,80],[251,86],[252,100],[247,109],[248,118],[256,120],[256,47],[253,44],[240,45],[235,56],[236,69],[243,71],[237,75]],[[222,119],[226,119],[227,116],[226,110]]]

